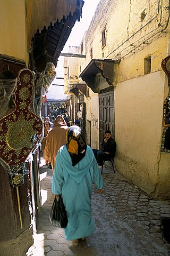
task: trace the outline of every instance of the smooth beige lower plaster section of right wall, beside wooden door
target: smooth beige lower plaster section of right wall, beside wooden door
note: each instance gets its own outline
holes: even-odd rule
[[[150,195],[161,188],[162,196],[169,190],[170,163],[167,153],[160,154],[164,86],[164,72],[157,71],[115,88],[116,167]]]

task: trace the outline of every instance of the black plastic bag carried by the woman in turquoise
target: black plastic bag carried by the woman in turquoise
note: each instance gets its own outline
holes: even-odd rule
[[[60,195],[57,201],[56,197],[54,198],[54,202],[52,205],[52,209],[50,211],[49,220],[54,227],[58,228],[66,228],[68,219],[67,213],[65,210],[65,205],[63,203],[63,198]]]

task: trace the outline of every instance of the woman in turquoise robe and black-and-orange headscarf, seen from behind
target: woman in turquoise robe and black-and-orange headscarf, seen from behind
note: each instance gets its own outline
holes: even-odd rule
[[[56,156],[52,193],[62,194],[68,218],[65,238],[72,240],[74,246],[79,244],[80,238],[86,241],[86,237],[94,233],[91,218],[93,183],[102,193],[104,182],[92,149],[86,145],[80,127],[70,126],[67,144]]]

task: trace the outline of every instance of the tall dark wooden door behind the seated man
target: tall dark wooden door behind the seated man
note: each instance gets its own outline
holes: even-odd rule
[[[100,145],[105,131],[110,130],[114,138],[114,90],[99,94],[99,140]]]

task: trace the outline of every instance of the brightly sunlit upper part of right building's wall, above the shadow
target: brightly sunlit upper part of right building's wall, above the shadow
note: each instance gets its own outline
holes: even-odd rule
[[[93,58],[124,59],[128,54],[142,51],[157,38],[169,37],[169,26],[166,28],[168,5],[168,0],[161,3],[158,0],[121,0],[118,3],[115,0],[101,0],[86,33],[86,63],[90,60],[91,47]],[[144,10],[145,18],[141,20]],[[102,47],[101,34],[104,29],[106,45]],[[163,33],[160,32],[162,30]],[[157,48],[155,45],[152,51],[156,55]]]

